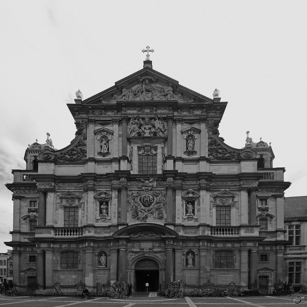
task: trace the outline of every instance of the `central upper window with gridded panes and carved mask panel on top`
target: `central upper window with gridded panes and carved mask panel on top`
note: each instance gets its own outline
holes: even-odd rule
[[[157,148],[149,146],[138,148],[138,173],[157,173]]]

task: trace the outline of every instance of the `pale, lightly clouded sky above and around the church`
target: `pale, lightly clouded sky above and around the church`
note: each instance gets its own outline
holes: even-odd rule
[[[306,1],[0,1],[0,252],[13,202],[4,184],[25,169],[27,145],[75,137],[67,103],[88,98],[143,67],[228,101],[220,136],[235,148],[246,131],[269,143],[273,167],[307,195]]]

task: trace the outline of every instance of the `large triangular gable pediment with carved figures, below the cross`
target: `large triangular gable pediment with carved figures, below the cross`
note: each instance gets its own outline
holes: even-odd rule
[[[150,67],[145,67],[115,82],[115,86],[84,99],[82,104],[112,104],[116,101],[147,100],[178,100],[182,103],[213,102],[213,99],[181,86],[177,80]]]

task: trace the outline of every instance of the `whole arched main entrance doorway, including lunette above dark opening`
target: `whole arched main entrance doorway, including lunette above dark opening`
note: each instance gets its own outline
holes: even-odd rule
[[[152,259],[139,260],[135,265],[135,290],[137,292],[159,290],[159,265]]]

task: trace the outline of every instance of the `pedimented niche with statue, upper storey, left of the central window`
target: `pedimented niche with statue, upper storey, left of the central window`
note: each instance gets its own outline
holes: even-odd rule
[[[95,152],[97,152],[97,157],[107,157],[113,156],[113,134],[114,131],[107,129],[105,127],[94,130],[95,135]]]

